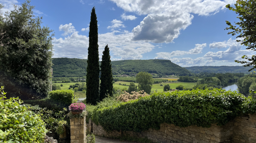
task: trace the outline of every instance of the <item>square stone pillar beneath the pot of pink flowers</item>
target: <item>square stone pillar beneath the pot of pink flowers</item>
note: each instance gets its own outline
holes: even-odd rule
[[[71,143],[86,143],[86,121],[84,118],[70,119]]]

